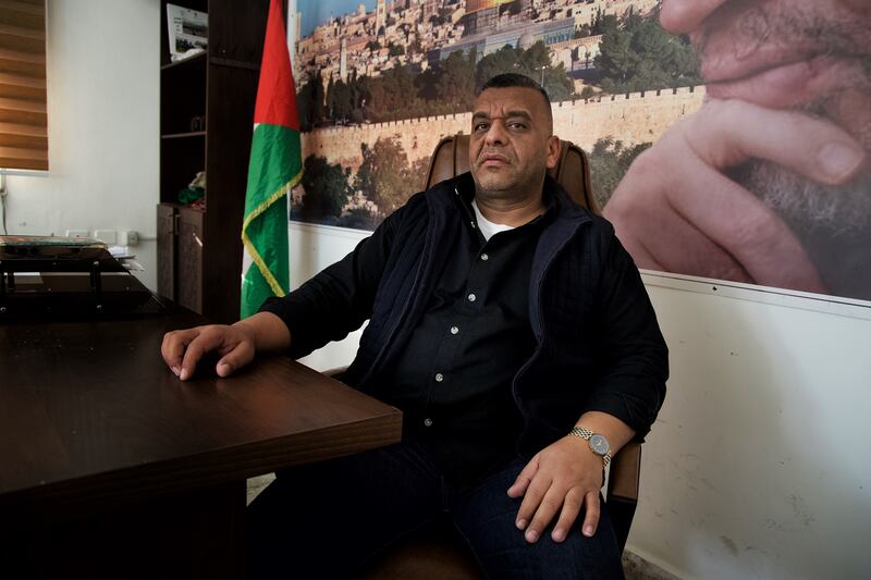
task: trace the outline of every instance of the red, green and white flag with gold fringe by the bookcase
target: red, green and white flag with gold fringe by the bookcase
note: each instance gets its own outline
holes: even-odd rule
[[[284,296],[290,289],[287,194],[302,176],[296,89],[284,18],[281,2],[271,0],[242,224],[242,318],[257,312],[270,296]]]

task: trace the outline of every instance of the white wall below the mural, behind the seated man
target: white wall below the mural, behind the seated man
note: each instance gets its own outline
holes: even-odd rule
[[[294,286],[365,236],[290,234]],[[868,578],[871,308],[645,280],[672,375],[629,550],[683,578]],[[306,362],[346,365],[357,336]]]

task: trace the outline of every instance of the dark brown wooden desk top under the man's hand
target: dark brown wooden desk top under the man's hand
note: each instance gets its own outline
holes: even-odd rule
[[[193,314],[0,324],[0,511],[113,505],[397,442],[402,415],[284,357],[181,382]]]

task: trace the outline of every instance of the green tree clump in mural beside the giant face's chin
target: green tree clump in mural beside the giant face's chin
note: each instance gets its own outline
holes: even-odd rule
[[[655,90],[701,84],[698,58],[686,38],[663,30],[655,16],[629,14],[602,20],[596,58],[608,92]]]

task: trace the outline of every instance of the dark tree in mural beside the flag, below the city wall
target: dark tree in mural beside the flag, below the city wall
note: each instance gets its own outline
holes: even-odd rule
[[[339,218],[351,195],[349,170],[330,163],[323,157],[308,156],[303,163],[302,218],[306,221],[324,221]]]

